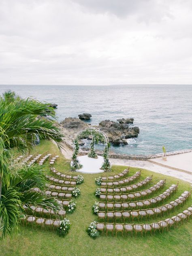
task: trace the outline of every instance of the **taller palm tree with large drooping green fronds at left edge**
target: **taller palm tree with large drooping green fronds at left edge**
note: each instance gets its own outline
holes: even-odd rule
[[[47,113],[49,112],[49,117]],[[31,98],[21,99],[14,92],[6,92],[0,97],[0,206],[2,200],[9,196],[18,204],[18,193],[13,191],[11,187],[11,169],[10,169],[10,151],[17,148],[23,154],[31,151],[34,141],[38,135],[41,140],[53,139],[55,142],[62,141],[62,134],[59,128],[54,125],[53,119],[55,112],[49,107],[49,104],[41,103]],[[6,188],[6,191],[4,190]],[[4,198],[2,199],[2,190]],[[12,197],[13,196],[13,197]],[[5,202],[4,202],[5,205]],[[3,213],[2,213],[3,214]],[[0,216],[0,223],[2,220]],[[7,220],[3,219],[4,225],[8,223],[11,216],[7,216]],[[17,217],[14,217],[17,218]],[[7,233],[9,232],[6,229]],[[6,233],[5,232],[5,233]]]

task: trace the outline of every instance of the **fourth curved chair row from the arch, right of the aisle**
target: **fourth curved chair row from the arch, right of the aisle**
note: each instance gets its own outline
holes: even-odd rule
[[[154,193],[157,190],[160,190],[165,186],[165,179],[160,180],[158,183],[156,183],[154,186],[151,188],[147,188],[145,190],[141,191],[136,191],[133,193],[113,193],[113,194],[100,194],[100,200],[102,201],[130,201],[131,199],[134,198],[140,198],[140,197],[145,197],[149,196],[150,194]]]

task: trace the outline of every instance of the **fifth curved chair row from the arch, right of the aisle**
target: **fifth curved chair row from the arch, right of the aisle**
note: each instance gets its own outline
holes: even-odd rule
[[[130,202],[112,202],[112,203],[120,203],[122,205],[122,209],[140,209],[140,208],[145,208],[145,207],[149,207],[149,205],[155,205],[157,203],[160,203],[161,201],[165,201],[167,198],[171,197],[171,194],[175,193],[177,190],[177,185],[172,185],[170,186],[165,192],[163,192],[162,194],[149,198],[149,199],[145,199],[145,200],[139,200],[139,201],[130,201]],[[104,208],[107,203],[111,203],[111,201],[100,201],[99,202],[99,207],[100,208]]]

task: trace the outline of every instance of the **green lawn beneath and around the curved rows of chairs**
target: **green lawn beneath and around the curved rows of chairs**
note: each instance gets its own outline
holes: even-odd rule
[[[57,147],[51,142],[42,142],[41,145],[36,146],[39,152],[49,150],[50,152],[58,151]],[[43,166],[45,170],[48,170],[48,165]],[[60,160],[56,162],[55,168],[58,171],[69,172],[70,161],[60,156]],[[123,171],[125,166],[112,166],[112,173],[118,173]],[[130,175],[134,174],[138,169],[130,168]],[[159,173],[153,173],[151,171],[143,170],[141,180],[145,177],[153,174],[153,184],[160,179],[166,178],[166,186],[160,192],[164,192],[171,184],[177,183],[178,179],[170,176],[161,175]],[[97,216],[92,213],[92,205],[98,199],[95,197],[94,192],[98,187],[95,184],[95,178],[98,174],[83,174],[84,183],[79,188],[81,189],[81,195],[77,198],[77,209],[71,215],[67,215],[67,218],[71,222],[71,228],[66,237],[58,237],[56,233],[49,231],[49,228],[41,231],[41,228],[34,228],[33,230],[29,226],[28,228],[21,228],[17,237],[13,239],[7,238],[0,245],[1,256],[104,256],[104,255],[141,255],[141,256],[191,256],[192,255],[192,220],[184,222],[183,225],[178,228],[171,228],[171,232],[164,231],[164,233],[152,235],[149,234],[146,237],[141,237],[138,233],[137,238],[132,238],[130,234],[126,238],[122,238],[119,234],[117,238],[109,235],[108,237],[100,236],[98,239],[93,240],[90,238],[85,229],[89,226],[90,222],[97,220]],[[151,185],[149,185],[151,186]],[[148,187],[149,187],[148,186]],[[190,190],[191,184],[179,180],[179,187],[176,194],[171,196],[166,203],[176,199],[185,190]],[[155,195],[155,194],[154,194]],[[176,208],[175,212],[168,216],[166,213],[164,217],[159,217],[156,220],[163,220],[179,212],[187,209],[192,205],[192,198],[187,201],[187,204],[181,209]],[[153,218],[150,221],[143,221],[144,223],[153,222]],[[135,221],[136,222],[136,221]],[[141,223],[141,222],[140,222]]]

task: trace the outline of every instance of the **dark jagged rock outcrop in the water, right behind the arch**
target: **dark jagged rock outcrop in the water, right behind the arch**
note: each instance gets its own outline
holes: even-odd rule
[[[107,134],[109,142],[114,145],[128,144],[126,139],[137,137],[139,134],[139,127],[129,127],[125,123],[117,123],[110,120],[104,120],[97,126]]]

